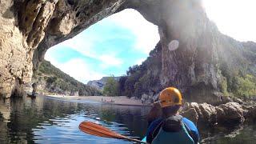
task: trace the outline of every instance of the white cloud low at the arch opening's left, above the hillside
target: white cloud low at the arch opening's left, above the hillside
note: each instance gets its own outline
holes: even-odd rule
[[[105,76],[105,74],[101,74],[98,71],[90,69],[91,66],[80,58],[74,58],[70,59],[68,62],[60,63],[54,58],[51,58],[49,54],[46,54],[46,60],[50,61],[64,73],[69,74],[71,77],[83,83],[87,83],[90,80],[100,79]]]

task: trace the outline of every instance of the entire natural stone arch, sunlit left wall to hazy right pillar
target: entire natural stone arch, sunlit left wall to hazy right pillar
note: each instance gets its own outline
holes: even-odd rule
[[[176,86],[186,99],[214,103],[219,98],[215,93],[226,92],[234,74],[246,69],[248,60],[240,54],[247,54],[242,51],[247,45],[220,34],[200,0],[1,0],[0,95],[21,93],[51,46],[126,8],[138,10],[158,26],[162,47],[158,87]],[[178,50],[168,50],[172,40],[178,40]],[[252,60],[254,56],[250,62],[255,64]]]

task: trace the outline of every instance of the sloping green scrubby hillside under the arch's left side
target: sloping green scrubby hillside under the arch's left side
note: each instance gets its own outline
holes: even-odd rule
[[[50,62],[44,60],[33,75],[34,82],[44,85],[51,93],[70,95],[102,95],[102,93],[91,87],[78,82],[70,75],[65,74]],[[42,87],[44,87],[42,86]]]

